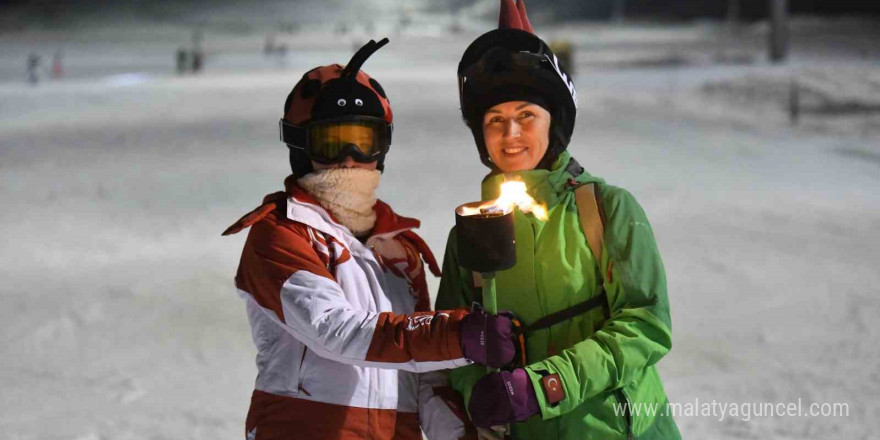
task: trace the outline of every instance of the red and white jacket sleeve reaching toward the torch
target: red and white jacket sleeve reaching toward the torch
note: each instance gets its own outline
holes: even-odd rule
[[[398,315],[364,310],[349,300],[316,248],[341,246],[316,242],[307,226],[266,217],[253,225],[242,252],[236,286],[295,338],[319,356],[334,361],[414,372],[467,365],[460,347],[464,311]],[[338,249],[334,271],[355,265]],[[353,281],[352,281],[353,280]],[[346,280],[346,290],[380,289],[366,276]]]

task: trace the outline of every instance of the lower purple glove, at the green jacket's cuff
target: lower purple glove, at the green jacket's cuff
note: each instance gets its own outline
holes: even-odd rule
[[[535,389],[526,370],[501,371],[474,385],[468,411],[474,425],[488,428],[522,422],[540,411]]]

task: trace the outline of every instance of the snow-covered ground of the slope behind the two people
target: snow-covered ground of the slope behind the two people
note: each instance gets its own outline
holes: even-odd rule
[[[799,49],[782,67],[590,62],[711,51],[711,35],[557,28],[554,38],[582,45],[570,149],[633,192],[655,227],[672,402],[802,399],[805,410],[846,403],[849,415],[677,421],[695,439],[872,438],[880,137],[791,127],[782,110],[752,112],[703,86],[830,62],[876,71],[880,58]],[[485,174],[455,84],[474,35],[390,36],[365,66],[396,116],[380,193],[421,218],[442,254],[453,208],[478,198]],[[239,437],[255,375],[232,284],[244,234],[220,232],[281,188],[276,130],[290,88],[308,67],[346,61],[360,37],[285,37],[280,68],[261,34],[207,33],[206,72],[176,77],[172,54],[189,30],[89,30],[64,39],[67,79],[24,84],[26,54],[60,38],[0,35],[0,438]],[[750,44],[737,48],[754,55]]]

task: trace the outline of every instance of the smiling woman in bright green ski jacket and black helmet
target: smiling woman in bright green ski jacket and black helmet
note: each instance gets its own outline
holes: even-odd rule
[[[680,439],[655,366],[672,335],[648,219],[566,151],[574,85],[521,2],[503,0],[500,23],[459,64],[462,113],[492,170],[482,198],[521,180],[548,218],[515,211],[517,262],[495,277],[498,309],[523,324],[524,362],[492,374],[459,368],[451,383],[478,427],[509,423],[515,439]],[[453,229],[438,310],[480,299],[478,277],[458,261]]]

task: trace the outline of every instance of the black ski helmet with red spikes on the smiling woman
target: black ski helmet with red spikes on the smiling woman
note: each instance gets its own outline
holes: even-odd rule
[[[532,32],[522,0],[516,6],[502,0],[499,29],[474,40],[458,64],[462,117],[474,135],[480,160],[493,170],[497,168],[486,150],[483,116],[495,105],[529,101],[550,113],[550,145],[538,168],[550,167],[574,131],[574,83],[550,46]]]

